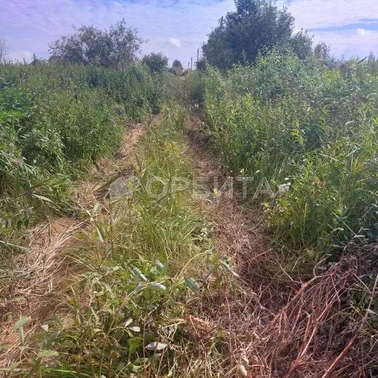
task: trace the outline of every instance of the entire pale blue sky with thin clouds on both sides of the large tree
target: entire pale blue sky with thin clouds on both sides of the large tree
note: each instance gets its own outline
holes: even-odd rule
[[[295,17],[295,30],[307,29],[314,42],[331,45],[335,57],[378,55],[378,0],[278,0]],[[72,32],[72,26],[100,29],[126,19],[148,42],[142,53],[162,52],[184,66],[233,0],[0,0],[0,35],[11,59],[48,57],[48,42]]]

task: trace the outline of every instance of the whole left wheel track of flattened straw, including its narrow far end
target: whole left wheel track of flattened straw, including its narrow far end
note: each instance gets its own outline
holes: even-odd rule
[[[134,126],[123,136],[120,152],[114,158],[101,159],[97,164],[99,169],[93,168],[88,179],[74,183],[71,195],[83,214],[103,199],[94,189],[106,183],[108,176],[122,175],[127,169],[144,133],[142,125]],[[1,344],[18,345],[18,332],[12,330],[15,318],[32,318],[25,330],[27,337],[40,330],[44,319],[62,307],[57,293],[69,289],[77,278],[77,267],[65,253],[74,245],[75,235],[87,228],[88,221],[68,217],[51,218],[32,227],[27,251],[15,257],[8,284],[0,290],[0,314],[9,314],[8,321],[0,324],[0,335],[4,333]],[[9,361],[17,361],[18,353],[18,348],[11,347],[3,351],[0,368],[8,367]]]

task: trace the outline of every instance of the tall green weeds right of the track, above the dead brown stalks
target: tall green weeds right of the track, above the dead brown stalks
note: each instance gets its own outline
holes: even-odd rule
[[[377,237],[378,75],[274,50],[205,75],[207,131],[229,170],[266,177],[275,240],[313,254]],[[290,189],[279,193],[282,184]],[[334,250],[335,251],[335,250]]]

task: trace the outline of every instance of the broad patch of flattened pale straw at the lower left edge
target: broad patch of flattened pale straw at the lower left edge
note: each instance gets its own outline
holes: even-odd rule
[[[12,330],[14,319],[31,316],[32,322],[25,330],[25,336],[41,329],[44,319],[52,316],[62,307],[60,294],[76,277],[76,268],[64,253],[72,247],[74,235],[84,222],[59,218],[41,223],[32,228],[27,252],[16,255],[7,270],[7,277],[0,291],[1,315],[8,321],[0,325],[2,344],[6,348],[0,354],[0,367],[8,367],[10,361],[18,360],[20,353],[18,332]]]

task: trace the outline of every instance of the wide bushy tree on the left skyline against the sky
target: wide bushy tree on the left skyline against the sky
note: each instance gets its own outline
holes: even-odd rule
[[[140,46],[146,42],[138,37],[136,29],[126,26],[126,21],[111,25],[109,30],[94,26],[74,28],[75,33],[62,35],[61,39],[49,43],[54,59],[64,62],[104,67],[120,67],[134,62]]]

